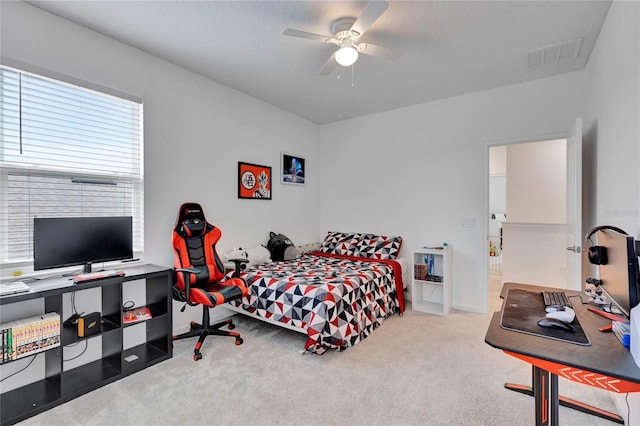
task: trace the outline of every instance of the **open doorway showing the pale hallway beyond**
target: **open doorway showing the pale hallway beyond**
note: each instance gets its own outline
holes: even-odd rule
[[[504,282],[566,288],[567,140],[489,147],[489,297]]]

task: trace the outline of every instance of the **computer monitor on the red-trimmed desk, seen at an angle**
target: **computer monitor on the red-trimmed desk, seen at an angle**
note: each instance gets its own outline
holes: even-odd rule
[[[599,230],[598,245],[607,248],[608,257],[607,263],[598,267],[602,289],[609,301],[629,317],[631,308],[640,301],[636,241],[630,235]]]

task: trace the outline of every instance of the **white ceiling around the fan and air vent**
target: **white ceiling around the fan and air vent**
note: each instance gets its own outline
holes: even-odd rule
[[[318,70],[367,1],[28,1],[315,123],[388,111],[585,67],[610,1],[388,1],[361,41],[400,49]],[[576,58],[528,66],[532,49],[583,37]],[[338,78],[338,71],[342,71]]]

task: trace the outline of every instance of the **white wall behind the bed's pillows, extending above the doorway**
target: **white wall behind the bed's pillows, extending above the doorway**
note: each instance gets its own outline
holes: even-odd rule
[[[488,145],[566,134],[581,72],[321,128],[321,226],[453,248],[454,307],[486,310]]]

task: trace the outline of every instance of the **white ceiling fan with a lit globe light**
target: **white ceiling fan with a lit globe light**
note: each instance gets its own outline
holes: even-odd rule
[[[333,52],[322,68],[320,68],[318,72],[320,75],[329,74],[335,63],[344,67],[353,65],[360,53],[386,59],[397,59],[400,57],[400,51],[397,49],[376,46],[370,43],[359,43],[364,33],[382,16],[388,7],[389,4],[383,0],[370,1],[359,18],[340,18],[334,21],[331,24],[331,33],[333,36],[314,34],[291,28],[284,30],[283,34],[291,37],[320,41],[322,43],[333,43],[339,46],[339,49]]]

